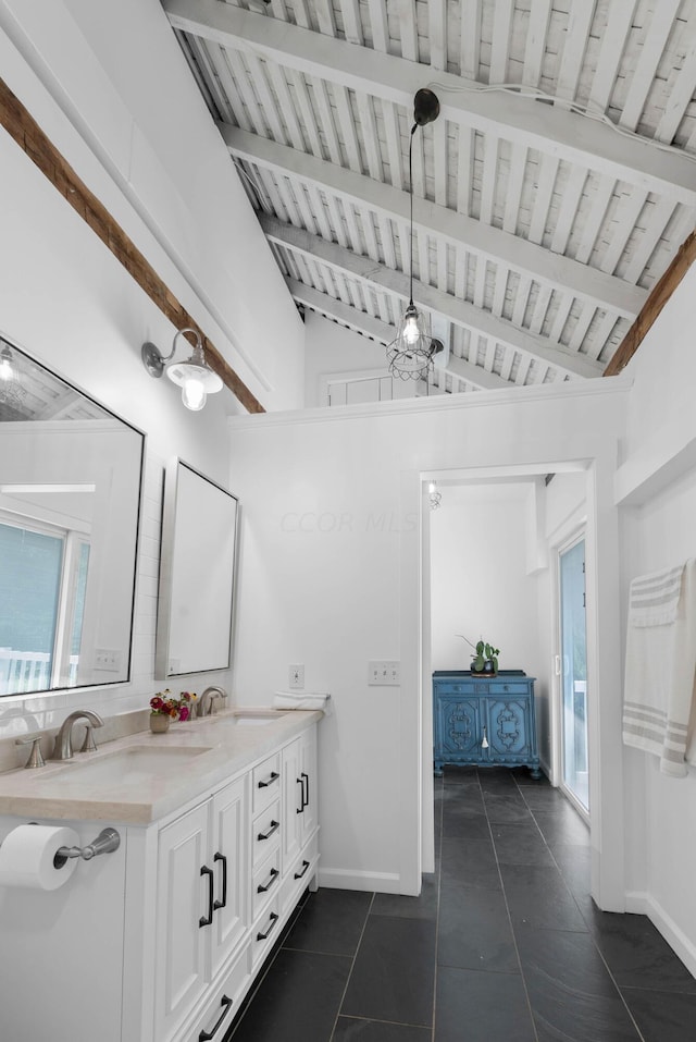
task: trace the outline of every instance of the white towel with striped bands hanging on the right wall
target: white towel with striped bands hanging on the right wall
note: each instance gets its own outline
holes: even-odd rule
[[[631,584],[623,701],[624,745],[684,777],[696,672],[696,559]],[[691,760],[691,757],[689,757]]]

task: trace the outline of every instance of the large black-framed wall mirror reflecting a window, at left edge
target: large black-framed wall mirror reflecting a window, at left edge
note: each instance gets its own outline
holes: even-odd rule
[[[0,339],[0,695],[128,679],[144,444]]]

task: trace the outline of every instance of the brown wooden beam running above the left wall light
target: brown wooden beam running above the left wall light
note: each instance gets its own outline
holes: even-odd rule
[[[160,279],[154,268],[146,260],[132,238],[126,235],[119,222],[111,216],[97,196],[89,191],[70,163],[46,136],[36,120],[0,79],[0,124],[28,156],[53,187],[73,207],[76,213],[88,224],[92,232],[111,250],[129,275],[147,293],[153,304],[172,322],[175,329],[192,327],[200,333],[206,357],[217,376],[232,391],[237,401],[249,413],[264,413],[265,409],[249,388],[225,361],[217,348],[198,328],[196,320],[177,301],[169,286]]]

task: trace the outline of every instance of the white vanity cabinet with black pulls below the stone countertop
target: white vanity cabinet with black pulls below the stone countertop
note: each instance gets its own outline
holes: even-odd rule
[[[82,845],[109,824],[121,846],[59,890],[0,887],[2,1038],[222,1042],[316,874],[319,718],[293,716],[244,765],[232,744],[229,772],[157,821],[107,819],[113,804],[62,821]],[[20,823],[0,816],[0,842]]]

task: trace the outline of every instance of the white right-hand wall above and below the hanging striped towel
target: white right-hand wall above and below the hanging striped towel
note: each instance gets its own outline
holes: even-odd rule
[[[617,475],[622,635],[630,580],[696,556],[695,287],[692,268],[629,367],[635,382]],[[651,916],[696,973],[696,769],[670,779],[647,753],[626,748],[624,759],[631,907]]]

